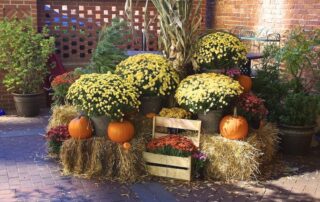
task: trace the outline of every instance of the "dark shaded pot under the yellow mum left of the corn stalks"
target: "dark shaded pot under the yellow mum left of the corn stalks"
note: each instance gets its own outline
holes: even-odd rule
[[[140,101],[140,113],[143,115],[148,113],[158,114],[162,108],[162,98],[160,96],[142,96]]]

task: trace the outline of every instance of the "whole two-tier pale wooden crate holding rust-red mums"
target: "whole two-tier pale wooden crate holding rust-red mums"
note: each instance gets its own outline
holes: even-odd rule
[[[165,117],[153,118],[153,138],[163,137],[168,134],[158,133],[155,131],[157,126],[179,128],[185,130],[197,131],[196,138],[190,138],[193,143],[199,147],[200,145],[200,130],[201,121],[187,120],[187,119],[174,119]],[[143,158],[147,164],[148,172],[155,176],[170,177],[181,180],[191,180],[192,161],[189,157],[168,156],[162,154],[154,154],[144,152]]]

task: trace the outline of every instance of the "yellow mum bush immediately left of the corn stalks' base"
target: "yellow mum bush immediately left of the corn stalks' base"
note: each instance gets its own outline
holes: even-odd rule
[[[139,88],[143,95],[169,95],[179,83],[172,64],[161,55],[139,54],[120,62],[116,73]]]

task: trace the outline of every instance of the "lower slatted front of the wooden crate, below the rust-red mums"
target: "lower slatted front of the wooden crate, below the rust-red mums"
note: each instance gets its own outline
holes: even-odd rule
[[[143,152],[143,158],[151,175],[191,180],[191,156],[177,157]]]

